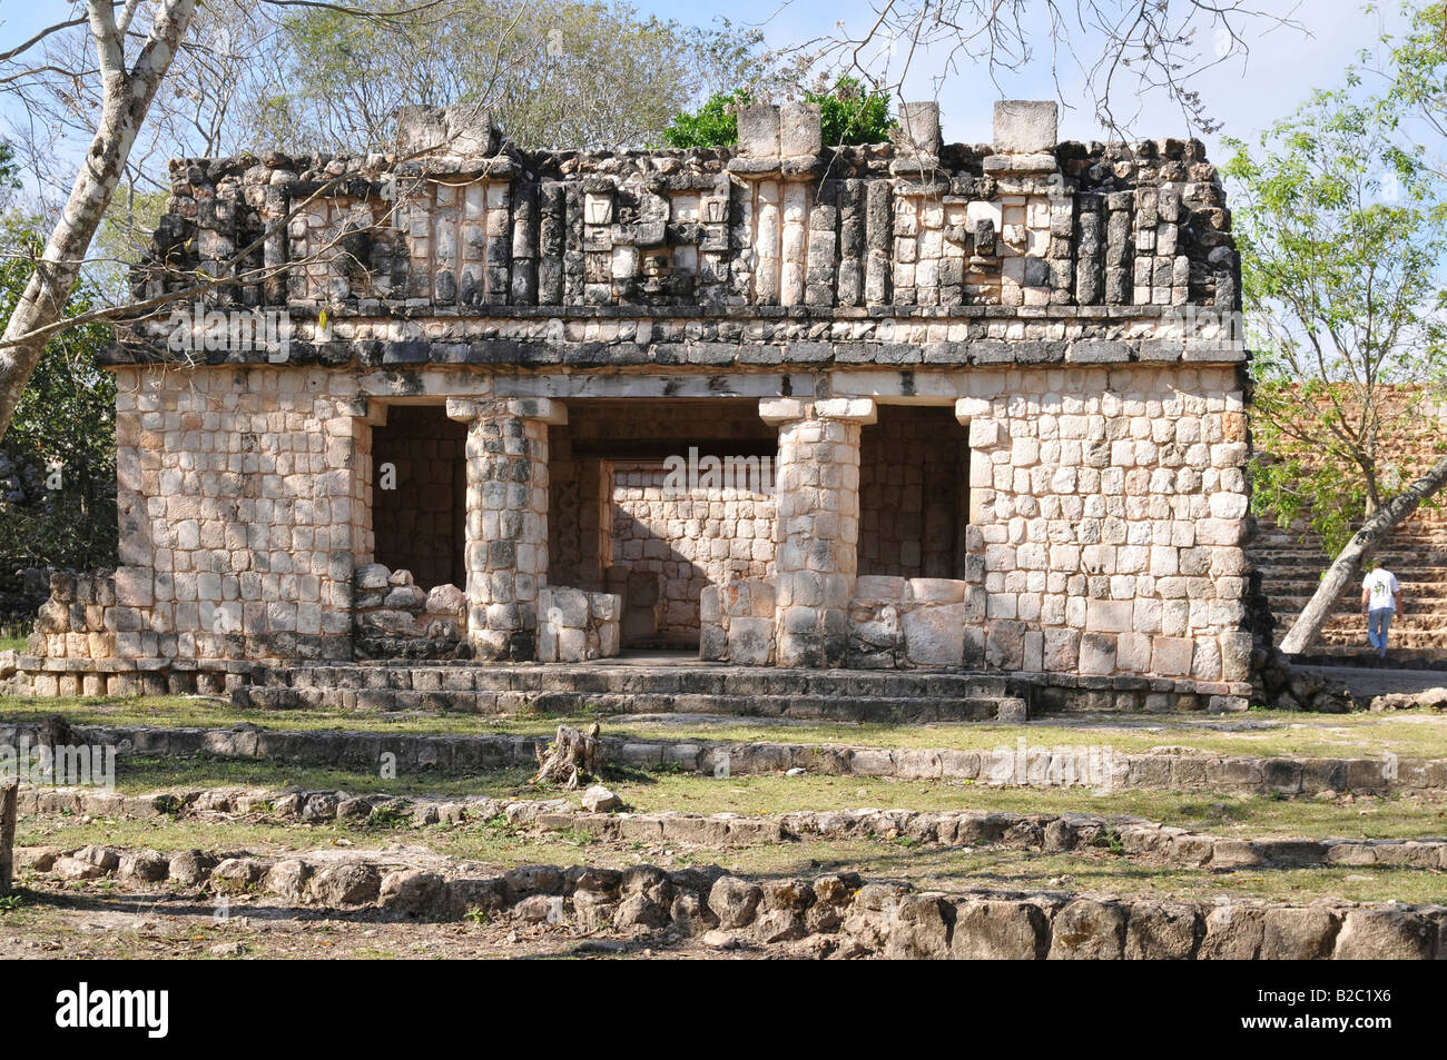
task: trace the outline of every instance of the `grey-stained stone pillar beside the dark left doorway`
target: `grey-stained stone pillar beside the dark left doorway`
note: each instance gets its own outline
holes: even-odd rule
[[[537,657],[547,583],[547,428],[567,411],[546,398],[449,401],[467,429],[467,639],[480,659]]]

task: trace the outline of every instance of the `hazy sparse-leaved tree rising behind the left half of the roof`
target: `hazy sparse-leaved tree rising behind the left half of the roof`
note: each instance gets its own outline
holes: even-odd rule
[[[489,108],[524,148],[640,146],[709,90],[767,68],[757,30],[642,16],[619,0],[450,0],[423,27],[356,17],[389,6],[288,16],[272,77],[237,110],[243,146],[376,149],[399,106],[454,103]]]

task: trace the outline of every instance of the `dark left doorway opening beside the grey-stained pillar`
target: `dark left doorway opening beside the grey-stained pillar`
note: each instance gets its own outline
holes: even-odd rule
[[[372,428],[376,561],[411,571],[424,589],[460,589],[466,580],[466,441],[467,428],[441,405],[394,405],[386,422]],[[386,464],[394,489],[382,487]]]

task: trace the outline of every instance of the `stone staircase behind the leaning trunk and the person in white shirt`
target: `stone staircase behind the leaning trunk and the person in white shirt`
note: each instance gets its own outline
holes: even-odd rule
[[[1276,616],[1276,644],[1281,644],[1315,593],[1328,560],[1314,537],[1304,538],[1297,526],[1281,529],[1266,521],[1260,522],[1247,551],[1262,573],[1262,587]],[[1391,659],[1399,665],[1447,659],[1447,522],[1435,512],[1411,519],[1376,558],[1402,583],[1405,613],[1392,623]],[[1360,584],[1354,583],[1341,596],[1312,655],[1347,662],[1372,654],[1360,594]]]

